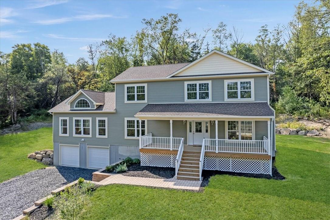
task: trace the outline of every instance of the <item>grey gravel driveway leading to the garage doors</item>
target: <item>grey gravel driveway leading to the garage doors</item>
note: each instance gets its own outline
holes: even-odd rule
[[[56,166],[38,169],[0,183],[0,219],[13,219],[54,189],[83,177],[92,180],[95,169]]]

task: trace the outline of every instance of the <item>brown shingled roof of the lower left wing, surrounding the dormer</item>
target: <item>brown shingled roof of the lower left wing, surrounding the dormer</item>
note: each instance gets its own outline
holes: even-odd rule
[[[96,92],[96,91],[90,91],[89,92]],[[100,112],[115,112],[116,110],[116,94],[115,92],[101,92],[103,93],[104,97],[104,104],[99,105],[96,109],[71,109],[70,105],[67,104],[68,100],[71,99],[74,95],[71,97],[65,99],[52,109],[50,109],[48,112],[89,112],[89,111],[100,111]],[[96,93],[94,93],[96,94]],[[100,95],[100,94],[98,94]],[[94,97],[95,98],[95,97]]]

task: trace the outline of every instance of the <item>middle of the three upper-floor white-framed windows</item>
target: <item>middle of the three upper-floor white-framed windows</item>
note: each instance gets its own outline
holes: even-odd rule
[[[185,101],[212,101],[211,81],[184,82]]]

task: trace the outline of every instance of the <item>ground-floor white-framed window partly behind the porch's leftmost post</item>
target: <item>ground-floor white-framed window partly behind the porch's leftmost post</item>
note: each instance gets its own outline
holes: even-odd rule
[[[141,120],[141,135],[147,133],[147,121]],[[125,118],[125,138],[137,139],[140,136],[140,122],[136,118]]]

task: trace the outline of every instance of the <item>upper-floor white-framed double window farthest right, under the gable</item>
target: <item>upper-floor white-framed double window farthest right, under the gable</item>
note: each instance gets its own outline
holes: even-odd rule
[[[224,80],[225,101],[254,101],[254,80]]]

